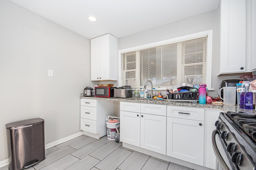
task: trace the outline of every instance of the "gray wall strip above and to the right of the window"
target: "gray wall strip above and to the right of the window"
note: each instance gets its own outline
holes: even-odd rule
[[[218,88],[222,80],[239,79],[241,75],[218,76],[217,55],[218,55],[218,10],[206,12],[197,16],[186,18],[177,22],[156,27],[144,32],[118,38],[118,50],[144,45],[147,43],[159,42],[175,37],[185,36],[206,30],[213,30],[212,47],[212,89],[208,95],[218,96]]]

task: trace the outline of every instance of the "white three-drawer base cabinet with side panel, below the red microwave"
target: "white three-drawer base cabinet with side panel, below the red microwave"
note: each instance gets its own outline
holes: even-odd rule
[[[97,139],[105,136],[107,115],[114,115],[113,101],[80,99],[80,129],[85,135]]]

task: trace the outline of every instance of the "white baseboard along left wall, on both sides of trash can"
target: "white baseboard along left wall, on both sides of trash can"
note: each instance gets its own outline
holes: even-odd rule
[[[51,148],[52,146],[56,146],[56,145],[58,145],[58,144],[61,144],[61,143],[63,143],[63,142],[66,142],[66,141],[68,141],[68,140],[71,140],[71,139],[73,139],[73,138],[76,138],[76,137],[78,137],[78,136],[81,136],[82,134],[83,134],[83,132],[81,131],[81,132],[78,132],[78,133],[76,133],[76,134],[72,134],[72,135],[70,135],[70,136],[67,136],[67,137],[65,137],[65,138],[56,140],[56,141],[54,141],[54,142],[50,142],[50,143],[48,143],[48,144],[45,145],[45,149]],[[1,160],[1,161],[0,161],[0,168],[6,166],[6,165],[8,165],[8,164],[10,164],[10,162],[11,162],[11,158],[8,158],[8,159],[5,159],[5,160]]]

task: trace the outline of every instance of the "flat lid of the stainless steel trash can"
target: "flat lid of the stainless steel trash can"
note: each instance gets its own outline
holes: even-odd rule
[[[44,119],[34,118],[34,119],[27,119],[23,121],[12,122],[12,123],[6,124],[5,127],[7,129],[14,129],[14,128],[22,128],[22,127],[37,125],[40,123],[44,123]]]

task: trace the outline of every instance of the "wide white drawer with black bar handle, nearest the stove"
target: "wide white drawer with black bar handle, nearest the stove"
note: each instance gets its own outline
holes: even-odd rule
[[[204,109],[194,107],[167,106],[167,116],[204,121]]]

